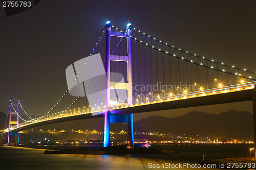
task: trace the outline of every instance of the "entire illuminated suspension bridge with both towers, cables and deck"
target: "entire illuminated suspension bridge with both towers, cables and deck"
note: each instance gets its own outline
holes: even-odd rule
[[[102,64],[91,64],[96,58]],[[92,71],[93,67],[98,68]],[[170,45],[131,24],[120,30],[107,22],[90,56],[67,68],[68,89],[56,104],[31,118],[19,101],[10,101],[3,132],[8,133],[8,144],[11,136],[19,143],[22,130],[104,117],[103,146],[110,143],[110,123],[127,123],[127,148],[134,148],[133,113],[253,101],[256,140],[255,75],[246,68]]]

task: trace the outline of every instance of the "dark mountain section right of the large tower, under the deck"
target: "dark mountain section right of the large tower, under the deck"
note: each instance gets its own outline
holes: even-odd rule
[[[183,116],[150,116],[134,123],[134,130],[203,135],[215,138],[253,138],[253,115],[229,110],[218,115],[192,111]]]

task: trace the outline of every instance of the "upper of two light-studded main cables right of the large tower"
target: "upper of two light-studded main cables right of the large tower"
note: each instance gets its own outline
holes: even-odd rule
[[[136,31],[137,33],[139,33],[139,34],[142,34],[140,31],[137,31],[137,30],[134,29],[134,28],[132,28],[132,29],[133,29],[134,31]],[[250,73],[250,74],[254,74],[254,75],[256,74],[256,72],[246,70],[246,68],[241,69],[241,68],[234,67],[234,65],[229,66],[229,65],[224,64],[223,62],[222,62],[222,63],[219,63],[219,62],[216,62],[216,61],[214,61],[214,60],[206,59],[205,57],[199,57],[199,56],[197,56],[197,55],[195,55],[195,54],[188,53],[187,51],[183,51],[183,50],[181,50],[180,48],[176,48],[176,47],[174,47],[174,46],[167,45],[167,43],[163,43],[163,42],[161,42],[161,41],[159,41],[159,40],[156,40],[155,38],[153,39],[153,38],[151,38],[150,36],[145,35],[144,33],[143,33],[142,35],[144,35],[145,37],[150,38],[150,39],[152,39],[152,40],[154,40],[154,41],[156,41],[156,42],[158,42],[158,43],[161,43],[161,44],[163,44],[163,45],[166,45],[166,46],[168,46],[168,47],[171,47],[171,48],[173,48],[173,49],[175,49],[175,50],[179,50],[180,52],[185,53],[185,54],[188,54],[188,55],[190,55],[190,56],[197,57],[197,58],[199,58],[199,59],[203,59],[203,60],[205,60],[205,61],[210,61],[210,62],[212,62],[212,63],[216,63],[216,64],[219,64],[219,65],[222,65],[222,66],[226,66],[226,67],[229,67],[229,68],[236,68],[237,70],[244,71],[244,72],[248,72],[248,73]]]

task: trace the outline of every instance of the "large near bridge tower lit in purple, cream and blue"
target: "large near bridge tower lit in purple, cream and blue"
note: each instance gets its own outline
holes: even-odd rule
[[[127,90],[127,104],[133,104],[132,96],[132,39],[129,37],[132,33],[132,25],[126,27],[127,36],[111,31],[111,23],[106,23],[106,81],[105,81],[105,115],[104,115],[104,147],[110,144],[110,123],[127,123],[128,125],[128,143],[127,148],[134,148],[133,135],[133,114],[112,114],[109,110],[110,106],[110,88],[113,87],[110,81],[110,63],[111,61],[121,61],[127,63],[127,83],[115,83],[115,89]],[[111,55],[111,37],[121,37],[127,40],[127,56]]]

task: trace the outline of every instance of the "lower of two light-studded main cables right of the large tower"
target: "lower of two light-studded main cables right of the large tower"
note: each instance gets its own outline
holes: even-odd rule
[[[115,29],[115,27],[113,27],[114,29]],[[117,30],[117,29],[116,29]],[[119,31],[119,30],[117,30],[117,31]],[[119,31],[120,32],[120,31]],[[122,33],[122,32],[121,32]],[[122,34],[124,34],[124,33],[122,33]],[[133,40],[135,40],[135,41],[137,41],[137,42],[139,42],[139,43],[142,43],[142,44],[144,44],[144,45],[146,45],[145,43],[143,43],[142,41],[140,41],[140,40],[137,40],[136,38],[133,38],[133,37],[130,37],[130,38],[132,38]],[[159,41],[157,41],[157,42],[159,42]],[[161,43],[161,42],[160,42]],[[146,45],[146,46],[149,46],[149,45]],[[151,46],[149,46],[149,47],[151,47]],[[151,47],[151,48],[153,48],[154,50],[156,50],[156,51],[159,51],[157,48],[154,48],[154,47]],[[172,47],[172,48],[174,48],[174,47]],[[177,50],[177,48],[174,48],[175,50]],[[159,51],[159,52],[161,52],[161,53],[164,53],[163,51]],[[188,55],[190,55],[189,53],[187,53]],[[177,59],[180,59],[180,60],[184,60],[184,61],[186,61],[186,62],[190,62],[190,63],[193,63],[193,64],[196,64],[196,65],[200,65],[200,66],[202,66],[202,67],[206,67],[206,68],[209,68],[209,69],[215,69],[214,67],[211,67],[211,66],[206,66],[206,65],[203,65],[202,63],[200,64],[200,63],[196,63],[196,62],[194,62],[193,60],[187,60],[187,59],[184,59],[183,57],[178,57],[178,56],[176,56],[176,55],[172,55],[172,54],[167,54],[167,55],[169,55],[169,56],[172,56],[172,57],[175,57],[175,58],[177,58]],[[191,56],[193,56],[193,57],[198,57],[198,56],[195,56],[195,55],[191,55]],[[201,58],[202,59],[202,58]],[[206,60],[206,61],[210,61],[210,60]],[[212,61],[211,61],[212,62]],[[219,64],[218,62],[215,62],[216,64]],[[224,65],[223,64],[223,66],[226,66],[226,67],[230,67],[230,66],[228,66],[228,65]],[[231,67],[231,68],[233,68],[233,67]],[[233,68],[234,69],[234,68]],[[236,68],[236,69],[238,69],[238,70],[242,70],[242,69],[239,69],[239,68]],[[223,71],[223,70],[220,70],[220,69],[215,69],[216,71],[219,71],[219,72],[224,72],[224,73],[226,73],[226,74],[229,74],[229,75],[233,75],[233,76],[238,76],[238,77],[241,77],[241,78],[245,78],[245,79],[249,79],[249,80],[253,80],[253,81],[256,81],[256,79],[252,79],[252,77],[251,76],[249,76],[249,77],[245,77],[245,76],[242,76],[241,74],[237,74],[237,72],[235,73],[235,74],[233,74],[232,72],[227,72],[227,71]],[[244,70],[242,70],[242,71],[244,71]],[[249,71],[245,71],[245,72],[249,72]],[[250,73],[252,73],[252,74],[255,74],[255,73],[253,73],[253,72],[250,72]]]

